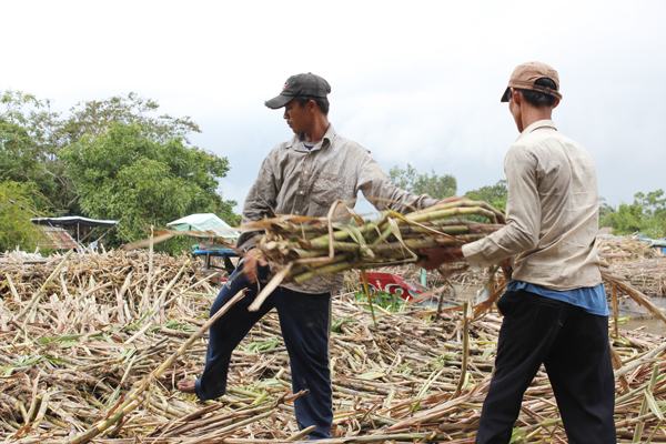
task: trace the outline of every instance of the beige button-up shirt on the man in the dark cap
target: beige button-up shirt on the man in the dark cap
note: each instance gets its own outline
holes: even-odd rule
[[[326,216],[335,200],[353,208],[359,191],[377,210],[408,212],[437,202],[395,186],[367,150],[341,137],[331,125],[310,149],[294,137],[269,153],[245,199],[243,223],[275,214]],[[255,234],[243,233],[239,246],[251,246]],[[341,282],[340,275],[319,276],[301,285],[284,286],[304,293],[324,293]]]

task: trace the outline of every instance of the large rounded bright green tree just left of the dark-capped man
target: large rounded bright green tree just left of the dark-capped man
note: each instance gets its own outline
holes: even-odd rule
[[[61,152],[85,214],[120,221],[118,241],[148,235],[150,225],[193,212],[235,222],[234,202],[216,193],[226,159],[186,147],[182,139],[152,140],[139,123],[114,123]]]

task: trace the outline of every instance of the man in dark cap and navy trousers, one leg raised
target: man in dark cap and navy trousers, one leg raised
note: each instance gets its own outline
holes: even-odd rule
[[[275,214],[326,216],[331,205],[344,201],[353,206],[359,191],[375,208],[407,212],[435,204],[427,195],[414,195],[393,185],[369,151],[337,134],[329,123],[329,82],[303,73],[286,80],[282,92],[265,102],[284,108],[286,124],[294,137],[275,147],[263,161],[243,208],[243,223]],[[240,290],[248,294],[230,309],[210,331],[203,374],[195,381],[181,381],[179,389],[196,393],[201,400],[224,394],[231,354],[264,314],[275,307],[290,356],[293,392],[307,391],[294,402],[301,428],[314,426],[311,438],[330,436],[333,421],[329,371],[331,294],[342,276],[317,276],[303,284],[279,286],[258,312],[248,306],[258,293],[258,279],[266,273],[266,262],[254,248],[258,232],[239,240],[244,251],[242,264],[222,287],[211,315]]]

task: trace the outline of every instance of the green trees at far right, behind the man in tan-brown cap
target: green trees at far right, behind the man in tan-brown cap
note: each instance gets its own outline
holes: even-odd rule
[[[622,203],[617,210],[602,205],[601,225],[613,228],[616,234],[643,233],[649,238],[666,236],[666,196],[664,190],[638,192],[634,202]]]

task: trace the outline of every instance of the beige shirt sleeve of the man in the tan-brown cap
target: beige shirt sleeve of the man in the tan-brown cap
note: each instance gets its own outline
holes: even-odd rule
[[[541,231],[537,160],[525,147],[513,145],[504,159],[508,189],[506,225],[488,236],[463,245],[474,265],[491,265],[533,249]]]

